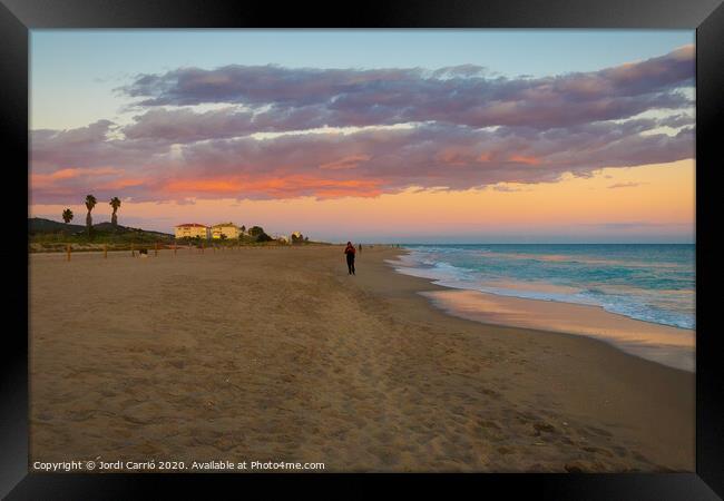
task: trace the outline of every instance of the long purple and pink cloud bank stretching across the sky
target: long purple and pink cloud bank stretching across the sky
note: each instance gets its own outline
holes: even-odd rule
[[[685,47],[537,79],[489,78],[470,65],[437,71],[228,66],[140,76],[121,89],[143,99],[130,124],[32,131],[32,197],[369,197],[412,186],[544,183],[693,158],[693,102],[679,92],[693,85],[693,56]],[[227,106],[162,107],[209,102]],[[669,111],[635,117],[650,110]],[[374,127],[397,124],[407,125]],[[311,130],[324,126],[371,127]],[[657,134],[661,127],[677,130]],[[294,134],[254,136],[285,131]]]

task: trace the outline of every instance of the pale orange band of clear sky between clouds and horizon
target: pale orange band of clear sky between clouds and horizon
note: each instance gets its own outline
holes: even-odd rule
[[[158,229],[177,220],[213,222],[218,214],[243,224],[255,222],[272,230],[304,227],[331,233],[353,225],[360,232],[397,234],[422,233],[507,233],[516,230],[540,234],[585,235],[612,225],[628,225],[634,234],[658,233],[662,228],[691,232],[695,209],[694,161],[640,167],[604,168],[590,177],[566,176],[555,183],[536,185],[500,184],[483,189],[434,190],[411,187],[399,194],[370,197],[339,196],[320,199],[315,196],[290,199],[236,200],[224,197],[243,185],[206,181],[194,186],[178,184],[177,189],[204,189],[222,193],[217,199],[197,198],[183,203],[158,204],[129,202],[124,214],[131,220],[158,219]],[[284,189],[278,179],[264,184],[264,189]],[[255,186],[261,188],[261,184]],[[373,186],[371,187],[373,188]],[[82,204],[70,205],[81,213]],[[38,205],[38,214],[53,214],[62,205]],[[99,206],[98,217],[110,217],[110,207]],[[636,219],[632,220],[632,215]],[[383,228],[380,227],[381,223]],[[665,233],[665,232],[664,232]]]

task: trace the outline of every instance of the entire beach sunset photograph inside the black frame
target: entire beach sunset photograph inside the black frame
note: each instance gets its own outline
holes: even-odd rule
[[[695,471],[694,30],[29,66],[31,472]]]

